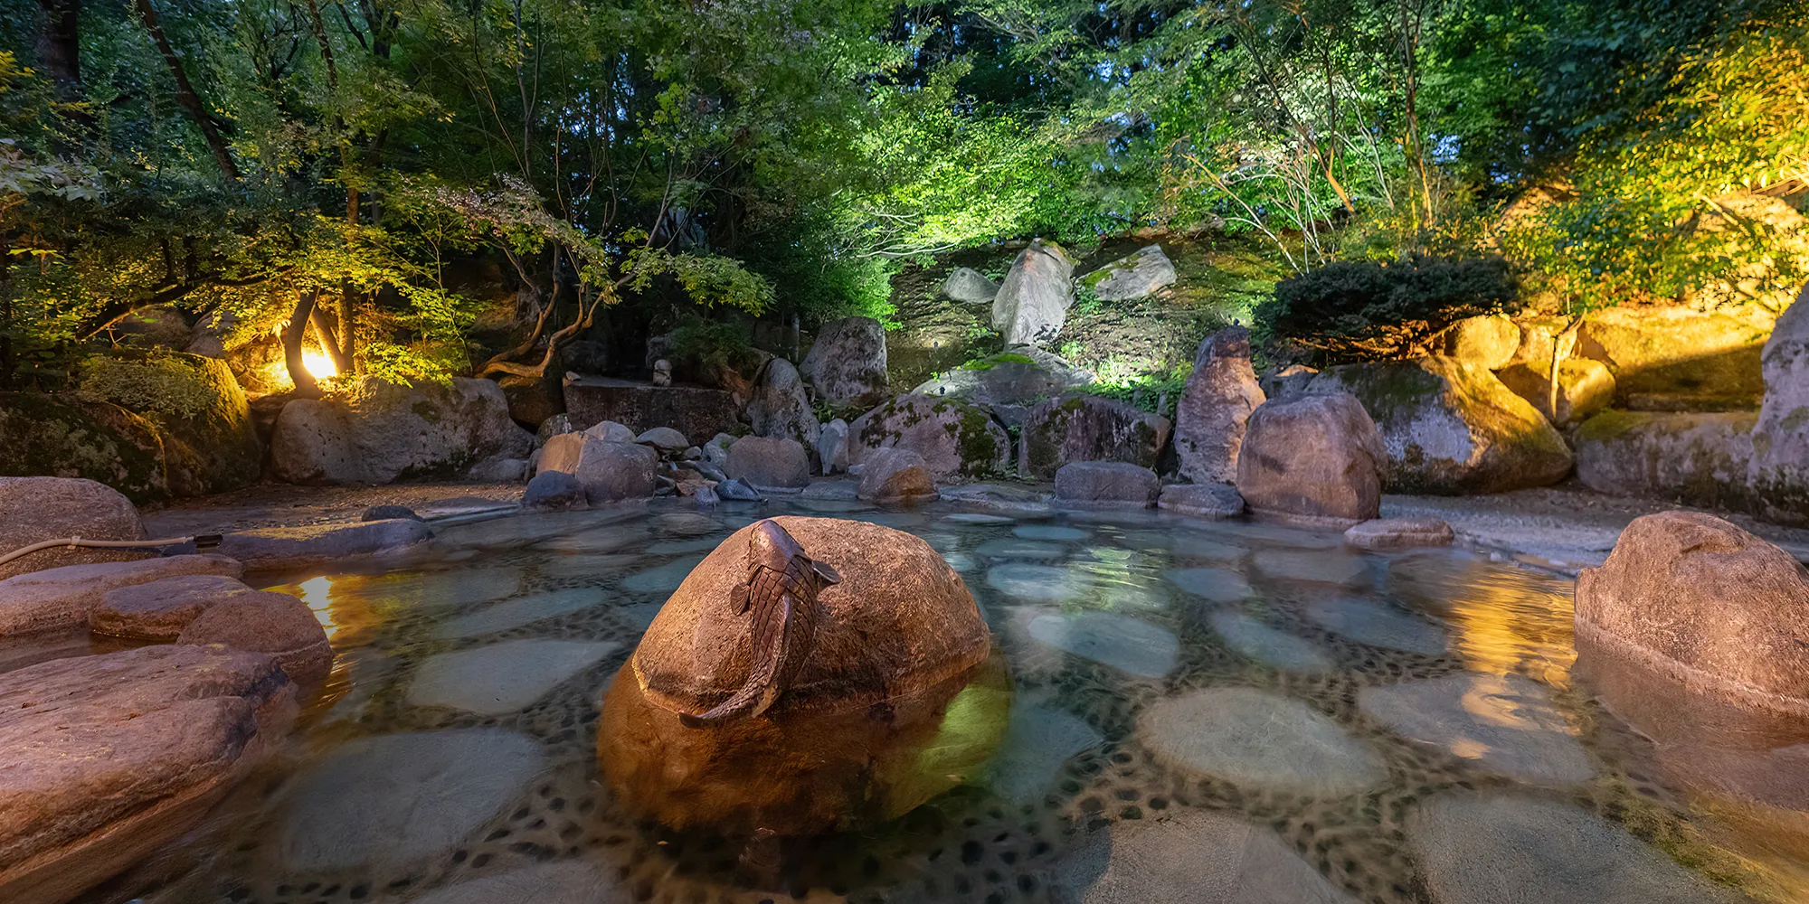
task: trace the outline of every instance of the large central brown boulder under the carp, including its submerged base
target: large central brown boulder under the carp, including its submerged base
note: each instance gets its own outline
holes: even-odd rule
[[[805,560],[771,557],[785,544],[774,526]],[[789,584],[751,570],[751,551]],[[805,649],[774,622],[783,607],[762,606],[776,586],[794,591],[796,615],[814,613],[785,622],[814,622]],[[769,665],[756,620],[780,627],[762,638],[781,638],[783,667]],[[990,653],[973,595],[921,539],[863,521],[758,521],[686,577],[617,673],[597,727],[604,779],[675,828],[810,835],[892,819],[997,747],[1008,691]],[[762,676],[776,694],[740,705]]]

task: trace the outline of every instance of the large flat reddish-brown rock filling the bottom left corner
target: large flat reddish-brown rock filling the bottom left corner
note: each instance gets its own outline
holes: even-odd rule
[[[0,674],[0,900],[69,900],[174,843],[295,712],[255,653],[156,645]]]

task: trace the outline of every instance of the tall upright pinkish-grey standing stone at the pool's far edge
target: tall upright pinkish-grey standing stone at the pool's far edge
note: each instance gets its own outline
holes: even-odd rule
[[[1207,336],[1194,353],[1194,372],[1174,412],[1181,476],[1194,483],[1236,481],[1245,427],[1263,401],[1250,367],[1250,331],[1228,327]]]

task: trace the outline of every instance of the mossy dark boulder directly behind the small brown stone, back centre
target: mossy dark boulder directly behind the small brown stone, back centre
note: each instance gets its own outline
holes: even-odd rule
[[[1011,438],[982,405],[959,398],[895,396],[848,425],[848,463],[903,447],[924,457],[939,481],[1004,474]]]

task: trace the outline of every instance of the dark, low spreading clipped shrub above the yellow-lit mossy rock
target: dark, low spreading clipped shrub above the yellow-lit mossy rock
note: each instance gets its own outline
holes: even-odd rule
[[[1313,363],[1346,363],[1424,354],[1447,325],[1518,307],[1500,257],[1339,260],[1277,284],[1255,322],[1261,338],[1304,349]]]

